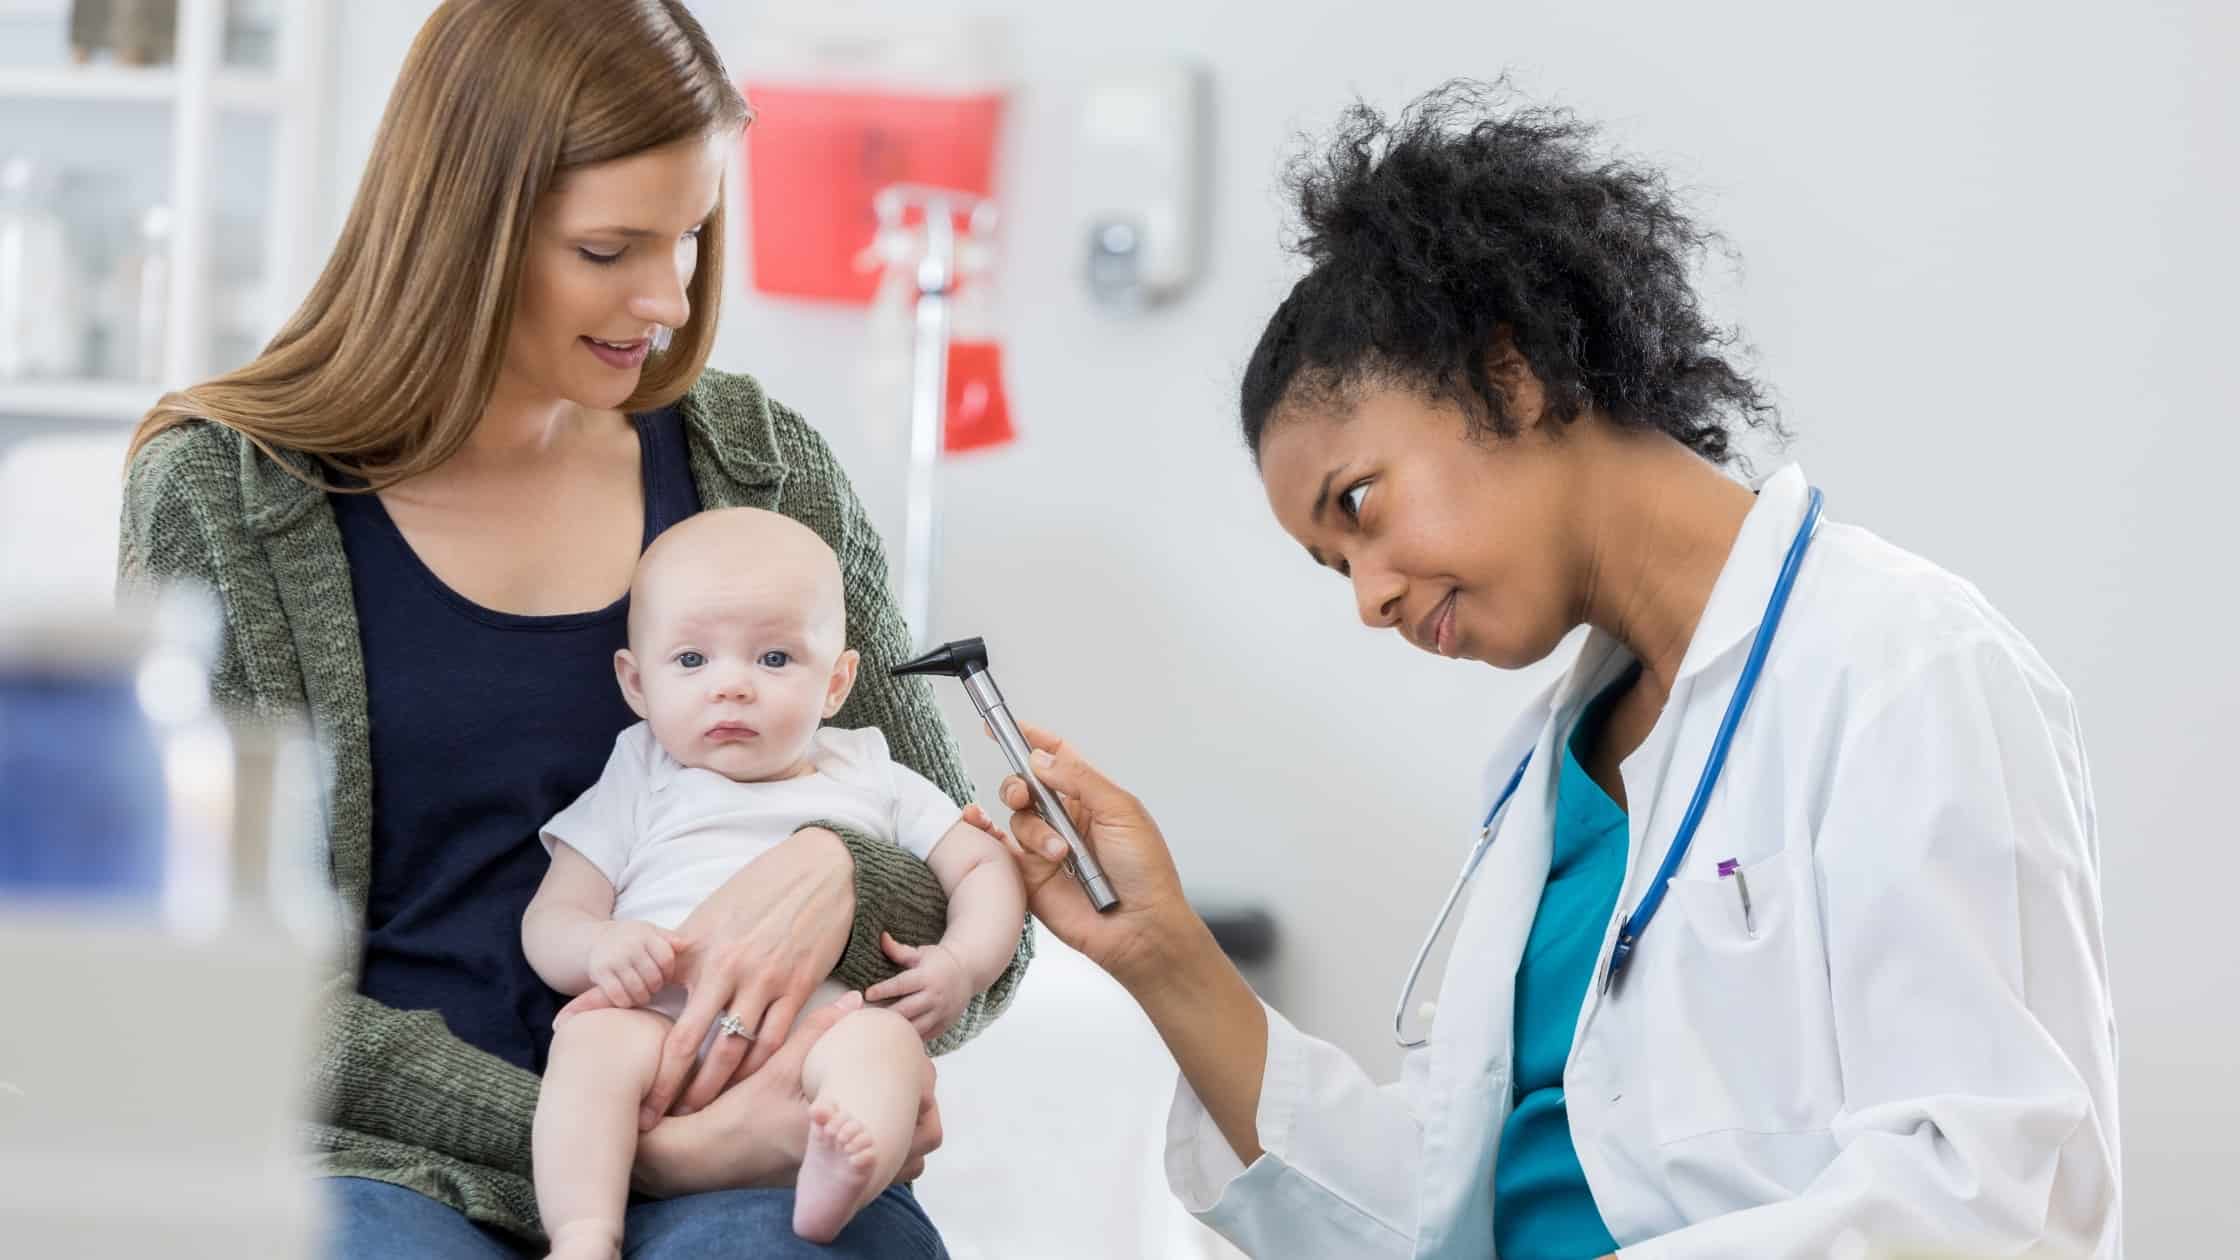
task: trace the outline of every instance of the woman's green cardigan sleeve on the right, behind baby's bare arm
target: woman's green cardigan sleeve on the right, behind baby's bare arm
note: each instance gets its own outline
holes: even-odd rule
[[[822,534],[840,554],[847,637],[862,655],[856,691],[833,724],[878,726],[896,760],[941,785],[959,805],[970,803],[972,778],[965,773],[956,738],[941,717],[932,686],[923,677],[887,675],[889,666],[909,657],[909,630],[887,585],[887,552],[878,531],[871,529],[847,473],[818,430],[777,404],[771,404],[771,417],[788,466],[780,509]],[[847,843],[856,863],[856,919],[833,975],[851,989],[865,989],[898,971],[878,948],[878,933],[889,930],[905,944],[936,942],[948,926],[948,899],[932,868],[903,847],[851,834],[847,827],[831,830]],[[1004,1013],[1033,955],[1033,928],[1021,921],[1010,969],[965,1004],[956,1025],[932,1043],[934,1054],[972,1040]]]

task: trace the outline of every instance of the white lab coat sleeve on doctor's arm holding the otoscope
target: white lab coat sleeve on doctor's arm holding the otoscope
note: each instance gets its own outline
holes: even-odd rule
[[[1413,1253],[1422,1125],[1409,1083],[1373,1085],[1337,1047],[1268,1011],[1261,1157],[1236,1159],[1187,1081],[1167,1114],[1167,1184],[1248,1256],[1402,1258]]]

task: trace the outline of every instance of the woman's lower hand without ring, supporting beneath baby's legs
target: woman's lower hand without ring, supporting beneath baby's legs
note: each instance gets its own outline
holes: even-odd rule
[[[849,993],[802,1020],[759,1072],[726,1090],[706,1110],[670,1117],[638,1137],[638,1159],[629,1182],[654,1197],[791,1186],[809,1143],[809,1099],[802,1094],[802,1063],[809,1047],[849,1011],[862,1009],[862,993]],[[732,1038],[737,1040],[737,1038]],[[934,1103],[934,1060],[925,1058],[918,1128],[896,1182],[916,1182],[925,1157],[941,1146],[941,1108]]]

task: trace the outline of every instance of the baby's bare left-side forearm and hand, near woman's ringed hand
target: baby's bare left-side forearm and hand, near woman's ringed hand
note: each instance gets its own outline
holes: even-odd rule
[[[676,969],[676,937],[614,921],[614,886],[567,841],[553,841],[553,865],[522,915],[522,953],[556,991],[596,984],[616,1007],[652,1002]]]

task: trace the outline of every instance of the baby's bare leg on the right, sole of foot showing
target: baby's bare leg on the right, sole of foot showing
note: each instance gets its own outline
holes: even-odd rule
[[[802,1063],[809,1150],[793,1186],[793,1233],[831,1242],[903,1170],[918,1125],[925,1045],[883,1009],[847,1016]]]

